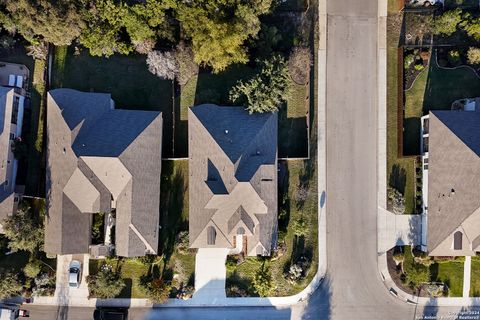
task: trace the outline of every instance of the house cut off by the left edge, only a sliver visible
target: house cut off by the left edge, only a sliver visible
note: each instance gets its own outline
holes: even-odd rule
[[[25,97],[12,87],[0,87],[0,221],[16,211],[18,160],[12,143],[22,134]]]

